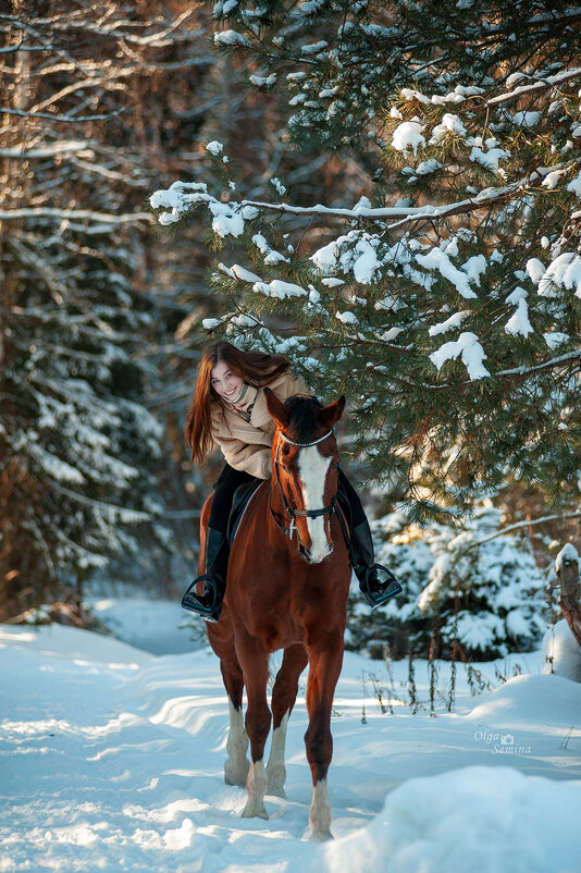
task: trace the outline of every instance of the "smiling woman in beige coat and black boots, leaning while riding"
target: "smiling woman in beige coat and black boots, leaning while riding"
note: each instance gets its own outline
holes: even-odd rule
[[[201,464],[214,443],[225,465],[214,483],[206,538],[206,571],[191,582],[182,601],[185,608],[218,622],[226,587],[227,522],[234,492],[256,479],[270,479],[274,421],[267,409],[264,386],[281,401],[294,394],[312,396],[290,371],[282,355],[242,352],[226,342],[211,343],[203,352],[196,391],[186,419],[186,444],[191,460]],[[364,599],[373,607],[398,594],[394,576],[374,564],[373,543],[361,501],[339,469],[337,499],[349,519],[354,570]],[[195,588],[203,582],[202,594]]]

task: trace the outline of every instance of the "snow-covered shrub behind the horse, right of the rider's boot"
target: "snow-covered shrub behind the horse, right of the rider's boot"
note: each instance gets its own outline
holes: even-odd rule
[[[524,541],[498,536],[498,513],[481,509],[463,529],[432,525],[405,528],[391,513],[374,522],[376,560],[400,580],[404,592],[371,616],[350,602],[347,644],[383,640],[392,656],[487,660],[530,650],[546,628],[545,580]],[[390,541],[388,541],[390,540]]]

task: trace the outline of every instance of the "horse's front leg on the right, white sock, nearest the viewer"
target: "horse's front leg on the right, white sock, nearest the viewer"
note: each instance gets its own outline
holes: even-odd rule
[[[331,709],[343,664],[343,634],[325,634],[324,638],[309,642],[307,648],[309,727],[305,734],[305,745],[313,786],[309,822],[313,839],[332,839],[326,774],[333,755]]]

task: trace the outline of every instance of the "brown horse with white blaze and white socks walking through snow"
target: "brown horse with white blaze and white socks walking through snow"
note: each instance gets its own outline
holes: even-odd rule
[[[308,664],[305,745],[313,784],[309,821],[313,838],[330,839],[331,708],[343,664],[351,575],[335,505],[338,451],[333,426],[345,398],[326,407],[313,397],[292,397],[283,405],[272,391],[265,393],[276,423],[272,475],[244,513],[230,556],[222,614],[218,624],[208,625],[230,702],[224,775],[226,783],[247,788],[245,817],[268,819],[265,794],[285,797],[286,726]],[[201,554],[210,501],[201,516]],[[200,558],[200,573],[201,565]],[[269,655],[279,649],[284,655],[269,709]],[[271,721],[273,736],[264,766]]]

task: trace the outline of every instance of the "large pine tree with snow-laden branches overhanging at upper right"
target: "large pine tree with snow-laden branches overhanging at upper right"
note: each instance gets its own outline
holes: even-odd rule
[[[223,302],[206,328],[284,352],[348,451],[412,518],[509,476],[579,496],[581,13],[566,3],[214,4],[214,42],[288,99],[295,148],[349,153],[357,202],[296,202],[273,179],[175,182],[161,223],[206,213]],[[277,195],[277,196],[276,196]],[[290,219],[293,225],[290,225]],[[296,230],[297,219],[301,225]],[[294,230],[293,230],[294,229]],[[293,328],[288,325],[293,324]]]

